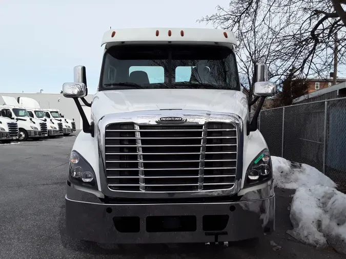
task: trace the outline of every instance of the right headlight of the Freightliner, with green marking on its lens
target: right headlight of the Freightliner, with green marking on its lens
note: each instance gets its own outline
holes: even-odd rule
[[[244,187],[261,184],[272,177],[272,159],[269,150],[263,149],[248,167]]]

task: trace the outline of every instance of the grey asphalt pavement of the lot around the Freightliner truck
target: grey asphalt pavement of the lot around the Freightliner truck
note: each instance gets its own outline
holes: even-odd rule
[[[106,245],[65,234],[68,158],[76,136],[0,144],[0,258],[344,258],[286,233],[291,190],[276,190],[276,231],[228,247],[204,244]],[[92,224],[92,223],[91,223]]]

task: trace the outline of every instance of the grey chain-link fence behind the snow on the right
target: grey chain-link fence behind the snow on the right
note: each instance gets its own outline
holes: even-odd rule
[[[346,187],[346,98],[263,110],[258,128],[271,155],[316,167]]]

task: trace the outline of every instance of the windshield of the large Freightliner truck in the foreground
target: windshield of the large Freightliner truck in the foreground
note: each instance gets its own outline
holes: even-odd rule
[[[99,90],[240,91],[232,50],[221,46],[118,46],[104,57]]]

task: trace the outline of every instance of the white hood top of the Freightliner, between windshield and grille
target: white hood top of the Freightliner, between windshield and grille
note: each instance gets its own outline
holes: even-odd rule
[[[92,116],[153,110],[198,110],[233,113],[245,121],[246,95],[240,91],[209,89],[134,89],[100,91],[92,101]]]

